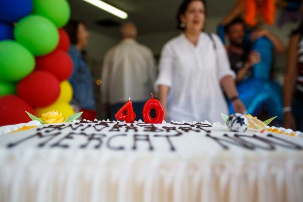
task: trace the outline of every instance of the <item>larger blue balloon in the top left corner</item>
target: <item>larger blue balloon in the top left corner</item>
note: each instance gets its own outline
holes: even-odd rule
[[[33,9],[32,0],[1,0],[0,21],[6,23],[17,22]]]

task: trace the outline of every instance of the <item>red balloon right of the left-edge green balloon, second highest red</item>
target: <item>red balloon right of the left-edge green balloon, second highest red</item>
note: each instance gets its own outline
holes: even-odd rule
[[[37,70],[52,73],[59,81],[68,79],[73,72],[73,61],[63,50],[55,50],[42,57],[36,57]]]

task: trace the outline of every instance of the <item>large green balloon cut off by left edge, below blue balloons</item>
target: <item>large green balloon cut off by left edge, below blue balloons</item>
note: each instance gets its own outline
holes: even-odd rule
[[[35,58],[23,45],[12,40],[0,42],[0,80],[16,82],[29,75]]]

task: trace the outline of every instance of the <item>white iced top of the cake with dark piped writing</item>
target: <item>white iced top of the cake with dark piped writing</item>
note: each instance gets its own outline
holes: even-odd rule
[[[35,128],[28,128],[34,125]],[[28,130],[20,130],[24,128]],[[275,130],[274,130],[275,129]],[[13,133],[9,133],[15,131]],[[273,132],[274,131],[274,132]],[[279,131],[279,132],[278,132]],[[142,121],[74,121],[0,128],[0,149],[22,152],[27,149],[102,151],[128,153],[173,153],[181,156],[218,153],[295,153],[303,155],[303,133],[268,127],[263,133],[247,130],[230,132],[221,123],[171,122],[149,124]],[[0,134],[1,134],[0,133]],[[285,135],[288,134],[288,135]]]

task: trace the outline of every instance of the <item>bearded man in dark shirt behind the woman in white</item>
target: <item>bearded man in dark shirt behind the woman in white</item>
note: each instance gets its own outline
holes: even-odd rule
[[[237,74],[236,82],[251,76],[251,68],[261,61],[257,51],[251,51],[245,44],[245,25],[241,18],[234,19],[225,26],[225,36],[228,39],[227,46],[231,69]]]

